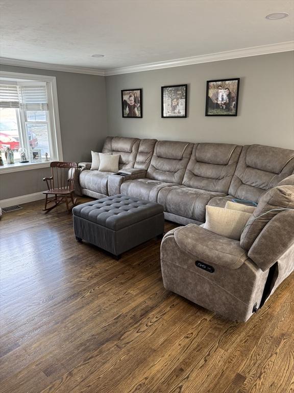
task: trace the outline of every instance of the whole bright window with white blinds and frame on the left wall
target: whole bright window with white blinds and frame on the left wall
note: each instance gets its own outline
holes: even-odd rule
[[[14,165],[5,158],[9,149]],[[55,77],[1,74],[0,150],[1,171],[62,160]]]

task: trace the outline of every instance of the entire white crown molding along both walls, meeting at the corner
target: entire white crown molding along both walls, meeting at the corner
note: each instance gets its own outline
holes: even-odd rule
[[[37,68],[42,70],[54,70],[63,72],[74,72],[78,74],[90,74],[100,76],[111,76],[120,74],[129,74],[132,72],[160,70],[164,68],[182,67],[183,65],[201,64],[213,61],[222,61],[238,59],[241,57],[268,55],[271,53],[294,51],[294,41],[278,42],[270,45],[261,45],[258,47],[236,49],[233,51],[217,52],[208,55],[184,57],[181,59],[159,61],[155,63],[145,63],[131,65],[130,67],[115,68],[112,70],[96,70],[93,68],[74,67],[73,65],[50,64],[37,61],[17,60],[7,57],[0,57],[0,64],[16,65],[17,67]]]

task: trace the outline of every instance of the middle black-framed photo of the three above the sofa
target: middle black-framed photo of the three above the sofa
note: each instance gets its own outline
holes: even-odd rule
[[[162,86],[161,117],[187,117],[187,85]]]

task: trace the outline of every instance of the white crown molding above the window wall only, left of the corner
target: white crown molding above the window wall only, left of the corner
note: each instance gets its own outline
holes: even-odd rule
[[[74,72],[78,74],[105,76],[105,71],[96,70],[94,68],[75,67],[74,65],[41,63],[38,61],[17,60],[17,59],[10,59],[8,57],[0,57],[0,64],[16,65],[17,67],[38,68],[41,70]]]

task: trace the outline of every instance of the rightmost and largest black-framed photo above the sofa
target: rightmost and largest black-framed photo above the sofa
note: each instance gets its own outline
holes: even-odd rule
[[[237,116],[240,78],[208,80],[205,116]]]

